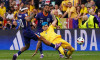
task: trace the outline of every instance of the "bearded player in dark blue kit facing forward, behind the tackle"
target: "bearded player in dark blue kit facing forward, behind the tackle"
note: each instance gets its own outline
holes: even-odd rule
[[[42,23],[43,22],[48,22],[48,24],[50,24],[50,23],[53,22],[52,15],[49,13],[49,11],[50,11],[50,7],[49,7],[49,5],[46,4],[44,6],[44,8],[43,8],[43,12],[38,13],[37,16],[35,17],[35,20],[38,21],[38,23],[37,23],[37,34],[38,35],[40,35],[40,33],[43,31],[42,30]],[[33,21],[33,23],[34,23],[34,21]],[[43,54],[43,50],[42,50],[42,43],[41,43],[41,41],[38,41],[38,43],[40,43],[40,48],[39,48],[40,54],[41,54],[40,55],[40,58],[43,58],[44,57],[44,54]],[[62,54],[59,54],[59,55],[60,55],[61,58],[64,57]]]

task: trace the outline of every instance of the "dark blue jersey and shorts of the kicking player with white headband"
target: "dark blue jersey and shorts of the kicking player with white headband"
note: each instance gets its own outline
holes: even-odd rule
[[[30,40],[38,40],[38,36],[31,30],[30,22],[26,21],[25,17],[27,14],[19,14],[18,20],[20,22],[20,27],[23,28],[23,36],[25,44],[30,44]]]

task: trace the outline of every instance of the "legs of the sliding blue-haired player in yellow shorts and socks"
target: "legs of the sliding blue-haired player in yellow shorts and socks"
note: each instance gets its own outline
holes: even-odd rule
[[[65,40],[61,39],[61,38],[57,38],[56,40],[53,41],[53,43],[62,43],[61,44],[61,47],[59,47],[59,51],[61,52],[61,54],[65,54],[65,56],[67,56],[68,58],[72,55],[73,51],[74,51],[74,48],[68,43],[66,42]],[[64,49],[68,49],[69,51],[68,52],[64,52]]]

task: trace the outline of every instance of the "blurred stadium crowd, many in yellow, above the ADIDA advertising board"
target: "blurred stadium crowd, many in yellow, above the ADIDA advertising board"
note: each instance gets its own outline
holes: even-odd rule
[[[57,29],[61,29],[60,18],[71,18],[73,28],[100,27],[100,0],[0,0],[0,29],[20,29],[17,15],[20,8],[27,6],[27,14],[36,15],[48,4],[50,14],[58,20]],[[32,19],[33,22],[35,19]]]

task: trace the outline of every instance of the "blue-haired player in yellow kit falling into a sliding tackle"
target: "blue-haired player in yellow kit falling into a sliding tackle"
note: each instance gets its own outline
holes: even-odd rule
[[[65,56],[67,58],[69,58],[72,55],[72,53],[74,51],[74,48],[68,42],[66,42],[65,40],[63,40],[61,38],[61,35],[58,35],[58,34],[56,34],[54,32],[54,27],[56,26],[56,23],[57,23],[56,18],[54,19],[53,23],[50,26],[48,26],[48,22],[43,22],[42,23],[42,29],[44,31],[41,32],[40,35],[42,37],[44,37],[46,40],[48,40],[49,42],[53,43],[53,44],[62,43],[58,50],[60,51],[60,53],[62,55],[65,54]],[[36,48],[36,51],[33,54],[33,56],[37,53],[39,44],[40,43],[37,44],[37,48]],[[68,49],[68,52],[66,52],[63,48],[64,49]]]

